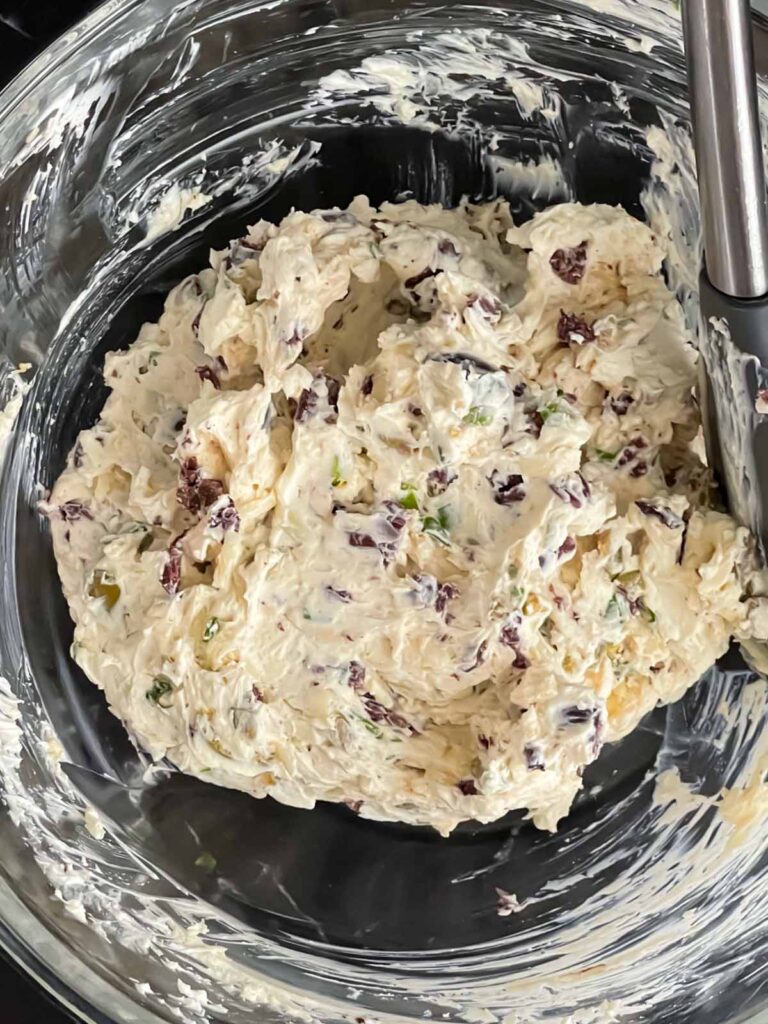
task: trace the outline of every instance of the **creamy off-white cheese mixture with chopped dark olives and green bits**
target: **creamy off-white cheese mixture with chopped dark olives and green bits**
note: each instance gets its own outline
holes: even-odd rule
[[[46,511],[73,654],[154,757],[297,807],[554,829],[765,636],[664,249],[621,209],[261,221],[168,296]]]

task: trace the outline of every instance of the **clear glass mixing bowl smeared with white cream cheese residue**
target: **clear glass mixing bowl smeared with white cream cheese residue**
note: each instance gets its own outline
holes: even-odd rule
[[[0,941],[84,1020],[768,1021],[766,702],[737,654],[606,749],[557,835],[295,810],[134,748],[69,656],[37,512],[104,352],[292,206],[621,203],[669,238],[694,331],[684,97],[666,0],[113,0],[0,95],[6,398],[30,365],[0,509]]]

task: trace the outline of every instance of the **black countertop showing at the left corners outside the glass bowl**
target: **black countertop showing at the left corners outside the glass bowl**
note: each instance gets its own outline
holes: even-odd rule
[[[94,0],[0,0],[0,87],[56,36],[96,6]],[[49,996],[0,956],[3,1024],[72,1024]]]

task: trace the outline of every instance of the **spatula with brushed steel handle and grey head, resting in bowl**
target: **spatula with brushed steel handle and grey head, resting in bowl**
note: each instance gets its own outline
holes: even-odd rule
[[[749,0],[683,0],[705,258],[708,444],[768,551],[768,202]],[[716,328],[720,329],[716,329]],[[768,392],[763,397],[768,396]]]

